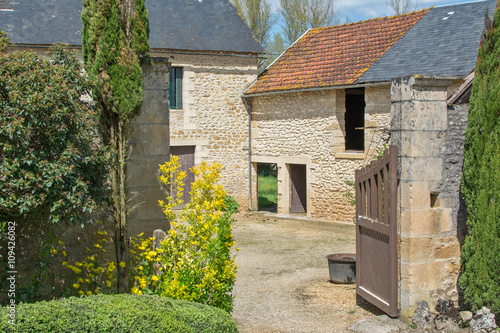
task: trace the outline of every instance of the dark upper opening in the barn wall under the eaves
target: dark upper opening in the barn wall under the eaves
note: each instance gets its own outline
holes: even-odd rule
[[[345,90],[345,150],[365,150],[365,88]]]

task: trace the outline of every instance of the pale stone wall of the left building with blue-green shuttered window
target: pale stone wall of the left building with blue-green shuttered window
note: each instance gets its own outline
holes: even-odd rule
[[[171,146],[195,146],[195,164],[219,162],[221,183],[248,209],[248,112],[241,100],[257,78],[258,59],[171,54],[183,68],[183,108],[170,110]]]

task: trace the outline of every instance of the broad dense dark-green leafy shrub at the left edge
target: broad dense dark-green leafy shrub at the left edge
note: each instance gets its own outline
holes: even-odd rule
[[[106,200],[109,164],[84,98],[94,82],[61,45],[50,60],[6,45],[0,31],[0,221],[83,224]]]

